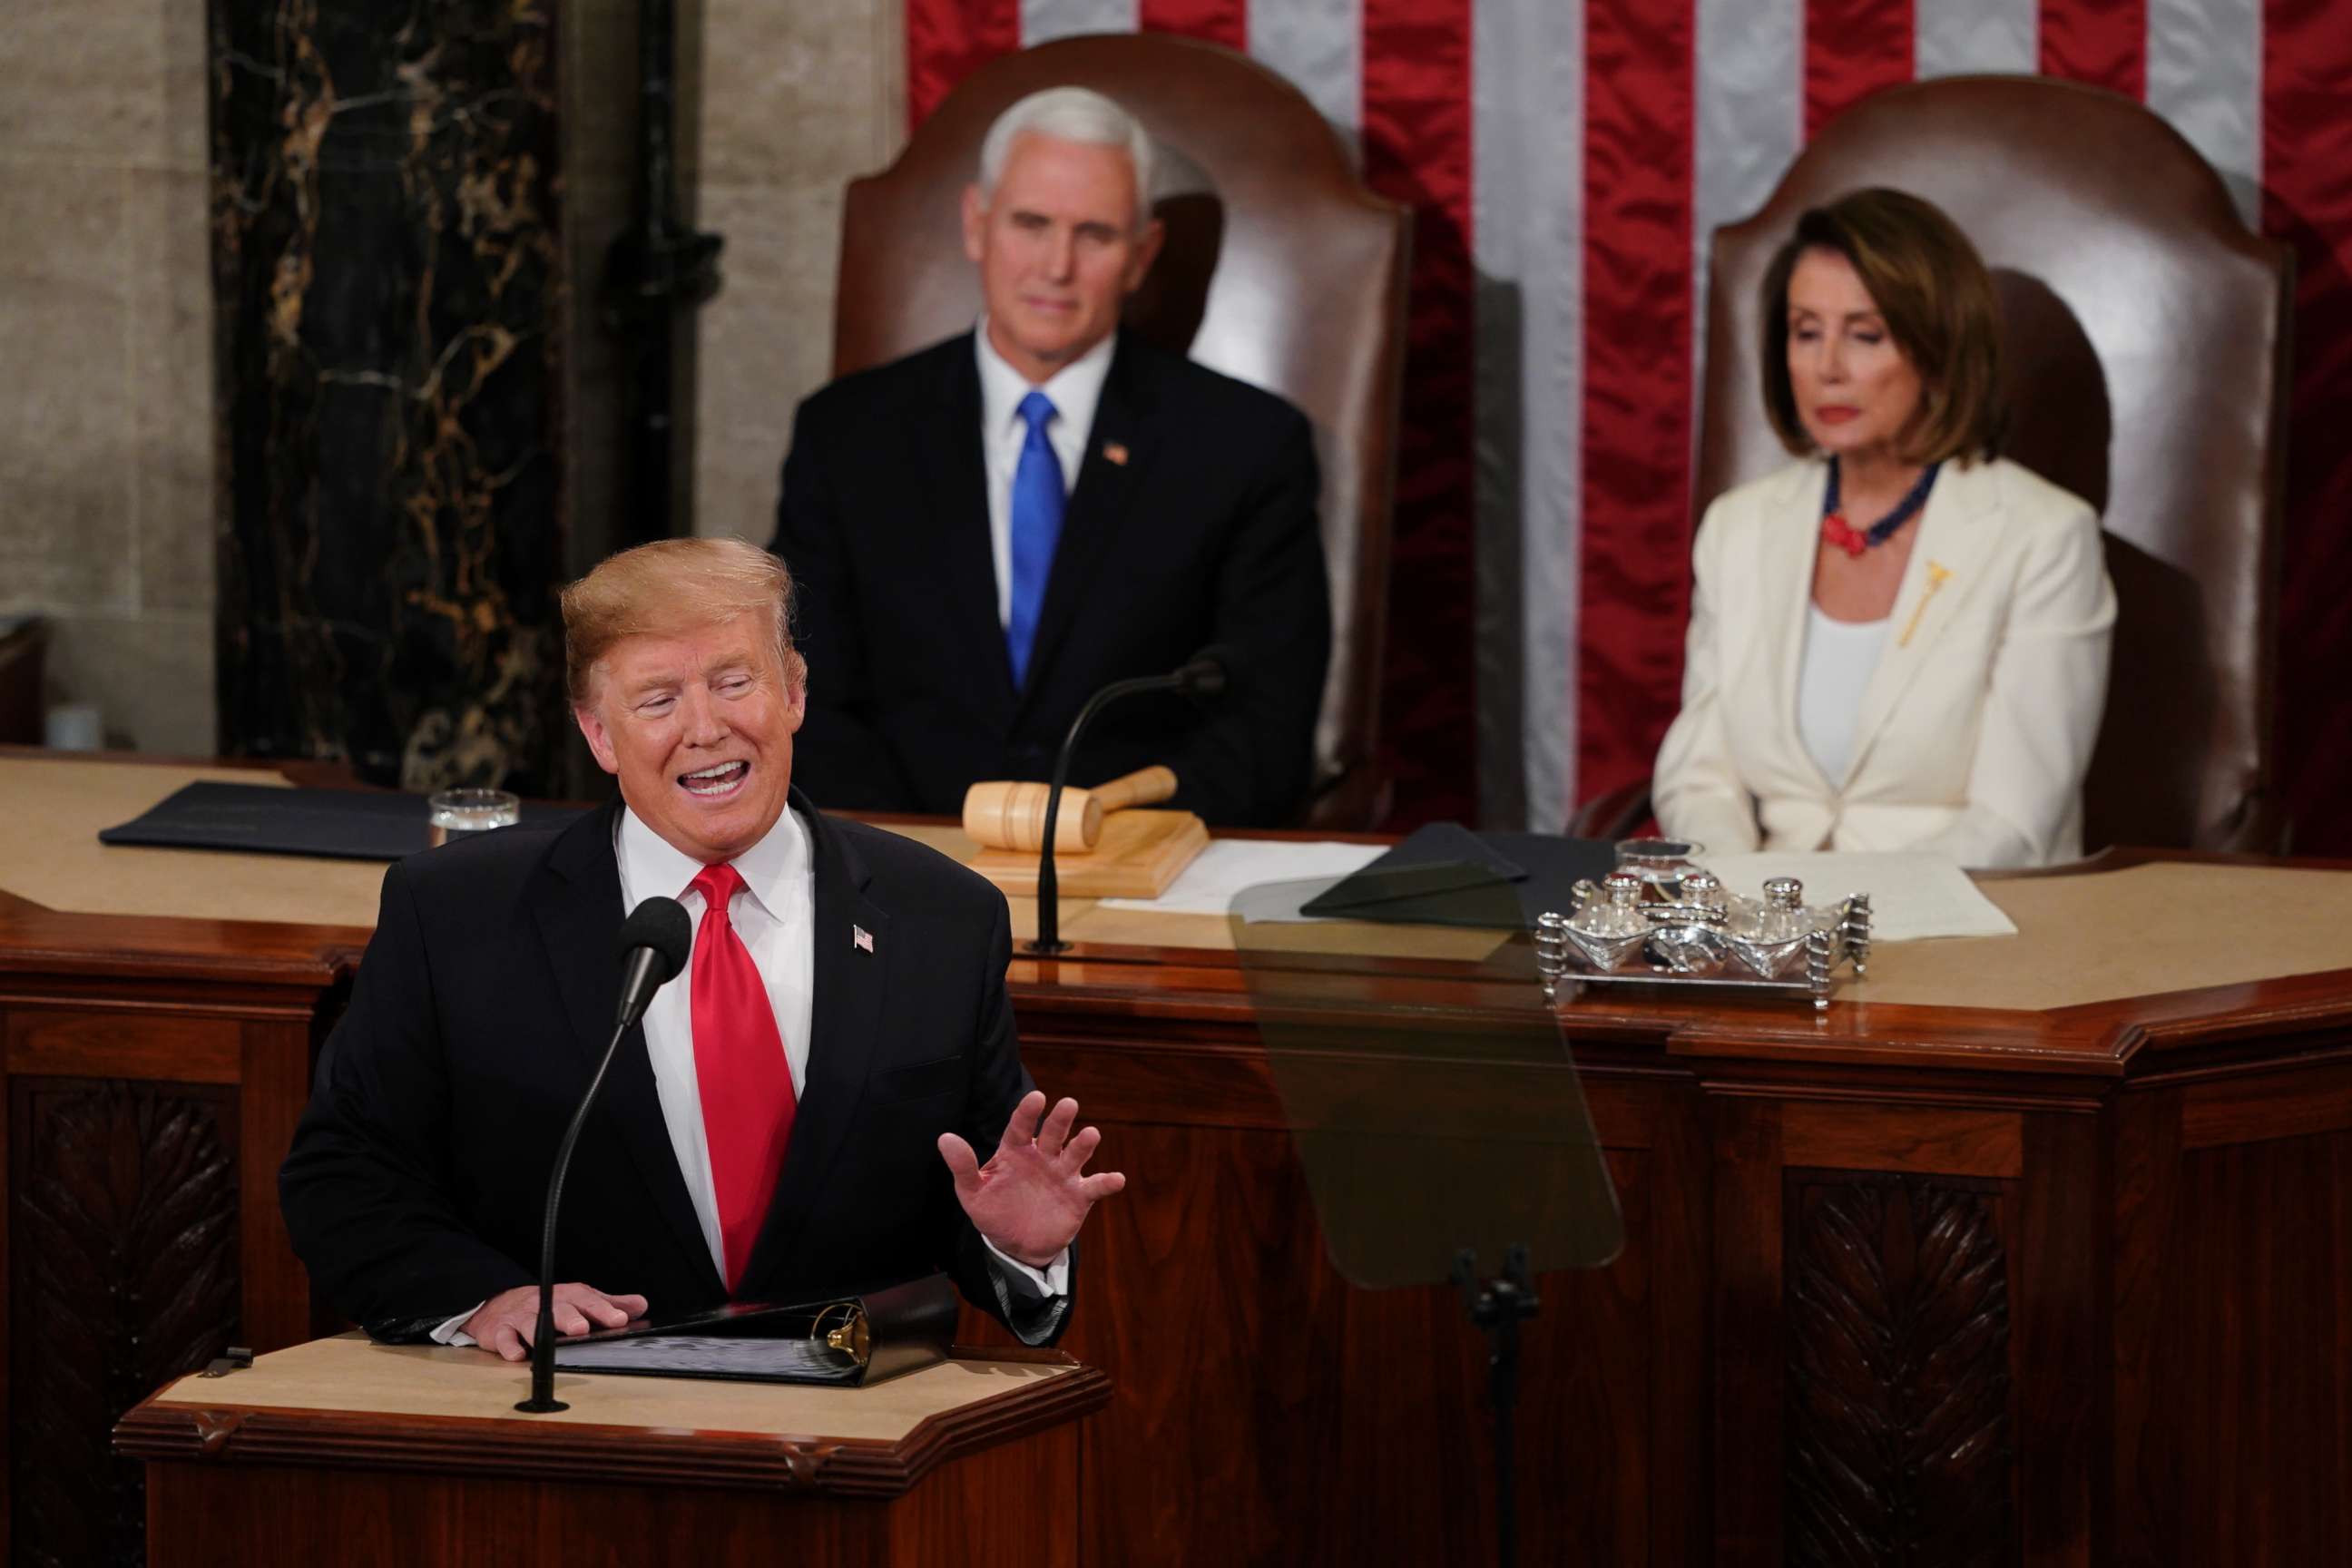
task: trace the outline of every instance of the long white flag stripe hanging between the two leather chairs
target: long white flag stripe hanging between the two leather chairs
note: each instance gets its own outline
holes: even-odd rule
[[[1470,26],[1479,816],[1557,830],[1576,780],[1585,26],[1581,5],[1524,0],[1477,0]]]

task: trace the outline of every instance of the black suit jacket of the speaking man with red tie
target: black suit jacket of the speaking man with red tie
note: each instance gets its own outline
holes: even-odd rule
[[[1049,1338],[1068,1298],[1049,1321],[1009,1309],[934,1147],[955,1131],[985,1159],[1030,1086],[1004,994],[1004,896],[920,844],[818,816],[797,790],[793,804],[816,872],[816,994],[743,1300],[946,1272],[1000,1319],[1021,1316],[1023,1338]],[[539,1276],[548,1168],[621,994],[619,809],[383,875],[376,936],[278,1178],[313,1284],[379,1338],[421,1338]],[[656,1312],[727,1300],[642,1027],[574,1150],[555,1279],[635,1291]]]

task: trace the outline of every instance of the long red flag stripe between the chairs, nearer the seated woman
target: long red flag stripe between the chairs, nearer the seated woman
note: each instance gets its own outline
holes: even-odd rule
[[[1691,0],[1585,7],[1576,790],[1649,773],[1691,604]]]

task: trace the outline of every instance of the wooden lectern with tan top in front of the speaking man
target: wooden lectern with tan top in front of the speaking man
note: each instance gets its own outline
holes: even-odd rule
[[[148,1563],[1077,1561],[1077,1418],[1103,1373],[985,1352],[866,1389],[557,1373],[358,1333],[191,1375],[115,1427]]]

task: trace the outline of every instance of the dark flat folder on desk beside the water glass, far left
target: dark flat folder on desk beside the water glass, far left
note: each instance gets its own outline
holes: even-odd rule
[[[522,804],[524,827],[560,827],[579,806]],[[400,860],[426,849],[426,797],[390,790],[280,790],[193,783],[99,830],[99,844],[235,849],[252,856]]]

